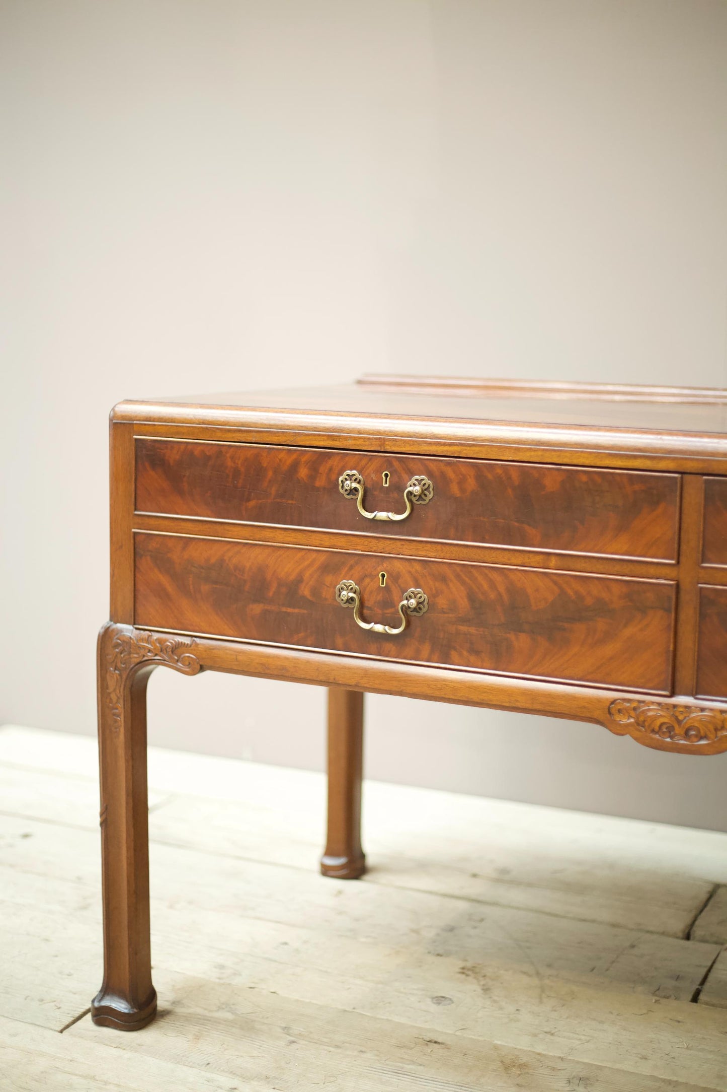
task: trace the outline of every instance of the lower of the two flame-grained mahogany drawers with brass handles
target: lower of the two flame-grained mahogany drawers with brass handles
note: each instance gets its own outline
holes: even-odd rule
[[[336,597],[403,632],[359,627]],[[669,693],[675,584],[218,538],[135,535],[135,624],[152,629]]]

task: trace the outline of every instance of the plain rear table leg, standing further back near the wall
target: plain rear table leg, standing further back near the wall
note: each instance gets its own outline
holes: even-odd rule
[[[328,838],[324,876],[354,880],[366,868],[361,848],[363,693],[328,691]]]

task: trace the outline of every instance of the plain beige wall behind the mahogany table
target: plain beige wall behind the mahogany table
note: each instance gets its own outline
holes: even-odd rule
[[[0,721],[95,731],[121,397],[364,370],[727,385],[722,0],[2,0]],[[325,691],[153,743],[322,768]],[[369,776],[727,830],[727,759],[395,698]]]

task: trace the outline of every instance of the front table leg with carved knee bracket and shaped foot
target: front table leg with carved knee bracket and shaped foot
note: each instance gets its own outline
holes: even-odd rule
[[[158,664],[196,674],[193,642],[105,626],[98,638],[104,984],[94,1023],[136,1031],[154,1019],[149,940],[146,685]]]

